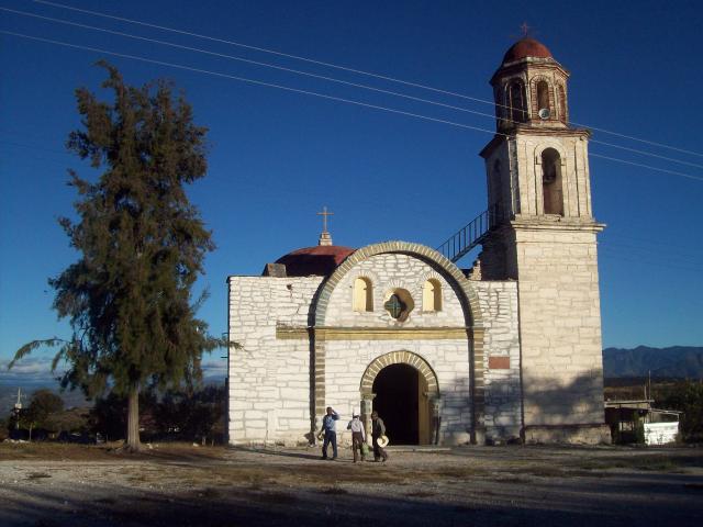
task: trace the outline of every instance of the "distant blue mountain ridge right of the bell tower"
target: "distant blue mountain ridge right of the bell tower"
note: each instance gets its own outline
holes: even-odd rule
[[[605,348],[603,350],[603,374],[620,377],[703,379],[703,347],[672,346],[634,349]]]

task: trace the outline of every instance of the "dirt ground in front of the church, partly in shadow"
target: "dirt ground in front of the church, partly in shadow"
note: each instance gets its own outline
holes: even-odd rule
[[[389,453],[0,444],[0,525],[703,525],[703,447]]]

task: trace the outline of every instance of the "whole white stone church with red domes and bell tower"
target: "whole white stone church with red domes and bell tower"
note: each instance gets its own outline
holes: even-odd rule
[[[569,72],[534,38],[491,78],[488,210],[439,249],[293,250],[231,276],[228,441],[315,441],[377,410],[395,445],[610,442],[588,130]],[[326,214],[326,210],[323,214]],[[326,220],[326,216],[325,216]],[[471,269],[456,266],[480,245]],[[342,441],[347,433],[339,426]]]

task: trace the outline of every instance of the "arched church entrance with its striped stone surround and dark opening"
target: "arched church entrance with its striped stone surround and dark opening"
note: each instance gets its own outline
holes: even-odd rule
[[[379,413],[393,445],[431,445],[437,378],[419,355],[395,351],[377,358],[361,380],[361,397]]]

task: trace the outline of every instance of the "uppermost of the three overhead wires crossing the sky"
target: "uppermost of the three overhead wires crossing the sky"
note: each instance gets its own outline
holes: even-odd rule
[[[224,38],[217,38],[217,37],[203,35],[203,34],[194,33],[194,32],[190,32],[190,31],[177,30],[177,29],[174,29],[174,27],[168,27],[168,26],[158,25],[158,24],[152,24],[152,23],[148,23],[148,22],[143,22],[143,21],[134,20],[134,19],[127,19],[127,18],[123,18],[123,16],[115,16],[115,15],[103,13],[103,12],[100,12],[100,11],[91,11],[91,10],[88,10],[88,9],[75,8],[72,5],[66,5],[66,4],[58,3],[58,2],[51,2],[51,1],[47,1],[47,0],[32,0],[32,1],[34,3],[52,5],[54,8],[66,9],[66,10],[76,11],[76,12],[80,12],[80,13],[91,14],[91,15],[94,15],[94,16],[102,16],[102,18],[111,19],[111,20],[118,20],[120,22],[127,22],[127,23],[131,23],[131,24],[137,24],[137,25],[142,25],[142,26],[145,26],[145,27],[153,27],[153,29],[156,29],[156,30],[168,31],[168,32],[171,32],[171,33],[178,33],[178,34],[181,34],[181,35],[194,36],[197,38],[203,38],[203,40],[211,41],[211,42],[217,42],[217,43],[221,43],[221,44],[228,44],[228,45],[232,45],[232,46],[238,46],[238,47],[243,47],[243,48],[246,48],[246,49],[254,49],[256,52],[268,53],[268,54],[271,54],[271,55],[278,55],[278,56],[281,56],[281,57],[292,58],[292,59],[295,59],[295,60],[302,60],[302,61],[310,63],[310,64],[315,64],[315,65],[319,65],[319,66],[325,66],[325,67],[328,67],[328,68],[335,68],[335,69],[339,69],[339,70],[343,70],[343,71],[349,71],[349,72],[353,72],[353,74],[365,75],[365,76],[368,76],[368,77],[373,77],[373,78],[377,78],[377,79],[388,80],[388,81],[391,81],[391,82],[398,82],[398,83],[401,83],[401,85],[411,86],[413,88],[420,88],[420,89],[423,89],[423,90],[429,90],[429,91],[434,91],[436,93],[443,93],[443,94],[446,94],[446,96],[458,97],[458,98],[461,98],[461,99],[466,99],[466,100],[475,101],[475,102],[480,102],[480,103],[483,103],[483,104],[495,105],[495,106],[504,108],[504,109],[509,109],[509,110],[511,109],[511,106],[507,106],[507,105],[504,105],[504,104],[499,104],[495,101],[489,101],[487,99],[480,99],[480,98],[476,98],[476,97],[466,96],[466,94],[462,94],[462,93],[457,93],[457,92],[454,92],[454,91],[442,90],[439,88],[434,88],[434,87],[426,86],[426,85],[421,85],[421,83],[417,83],[417,82],[411,82],[411,81],[406,81],[406,80],[402,80],[402,79],[398,79],[398,78],[394,78],[394,77],[389,77],[389,76],[384,76],[384,75],[380,75],[380,74],[373,74],[373,72],[370,72],[370,71],[364,71],[364,70],[360,70],[360,69],[354,69],[354,68],[349,68],[349,67],[346,67],[346,66],[339,66],[339,65],[332,64],[332,63],[325,63],[325,61],[322,61],[322,60],[315,60],[315,59],[312,59],[312,58],[301,57],[299,55],[292,55],[292,54],[288,54],[288,53],[277,52],[277,51],[268,49],[268,48],[265,48],[265,47],[252,46],[252,45],[248,45],[248,44],[243,44],[241,42],[228,41],[228,40],[224,40]],[[683,154],[689,154],[689,155],[692,155],[692,156],[703,157],[703,154],[698,153],[698,152],[687,150],[684,148],[679,148],[679,147],[676,147],[676,146],[666,145],[663,143],[657,143],[657,142],[649,141],[649,139],[643,139],[640,137],[635,137],[635,136],[632,136],[632,135],[626,135],[626,134],[622,134],[622,133],[618,133],[618,132],[613,132],[613,131],[609,131],[609,130],[605,130],[605,128],[591,126],[591,125],[583,124],[583,123],[577,123],[576,121],[572,121],[571,123],[577,125],[577,126],[584,126],[584,127],[594,130],[596,132],[602,132],[604,134],[614,135],[614,136],[626,138],[626,139],[631,139],[631,141],[636,141],[636,142],[644,143],[644,144],[647,144],[647,145],[650,145],[650,146],[657,146],[657,147],[660,147],[660,148],[668,148],[668,149],[680,152],[680,153],[683,153]]]

